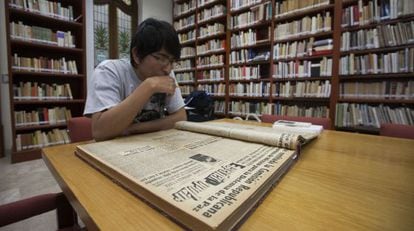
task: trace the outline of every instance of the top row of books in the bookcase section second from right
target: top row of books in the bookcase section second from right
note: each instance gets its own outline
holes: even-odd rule
[[[283,17],[286,15],[306,11],[329,5],[329,0],[286,0],[275,2],[275,17]]]

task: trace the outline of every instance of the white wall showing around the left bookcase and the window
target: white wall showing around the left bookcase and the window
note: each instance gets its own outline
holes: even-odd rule
[[[0,84],[1,84],[1,118],[3,124],[4,142],[7,153],[12,148],[12,132],[10,118],[9,83],[5,82],[7,75],[6,20],[4,1],[0,0]],[[93,1],[85,1],[86,5],[86,69],[87,76],[93,72]],[[138,0],[138,21],[153,17],[172,22],[172,1]],[[89,80],[89,78],[88,78]],[[89,82],[89,81],[88,81]]]

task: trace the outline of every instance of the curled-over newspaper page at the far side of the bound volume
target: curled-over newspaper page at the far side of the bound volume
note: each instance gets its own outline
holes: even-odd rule
[[[180,121],[175,124],[175,128],[288,149],[296,149],[306,139],[298,132],[292,133],[271,127],[230,122],[195,123]],[[306,136],[307,133],[304,133],[304,135]]]

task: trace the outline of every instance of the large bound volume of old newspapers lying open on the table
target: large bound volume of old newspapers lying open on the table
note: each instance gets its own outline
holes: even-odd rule
[[[178,122],[79,145],[76,154],[185,228],[229,230],[288,170],[302,141],[270,127]]]

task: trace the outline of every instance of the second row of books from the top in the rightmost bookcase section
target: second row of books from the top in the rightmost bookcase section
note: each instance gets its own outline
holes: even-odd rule
[[[414,21],[342,33],[341,51],[414,44]]]

